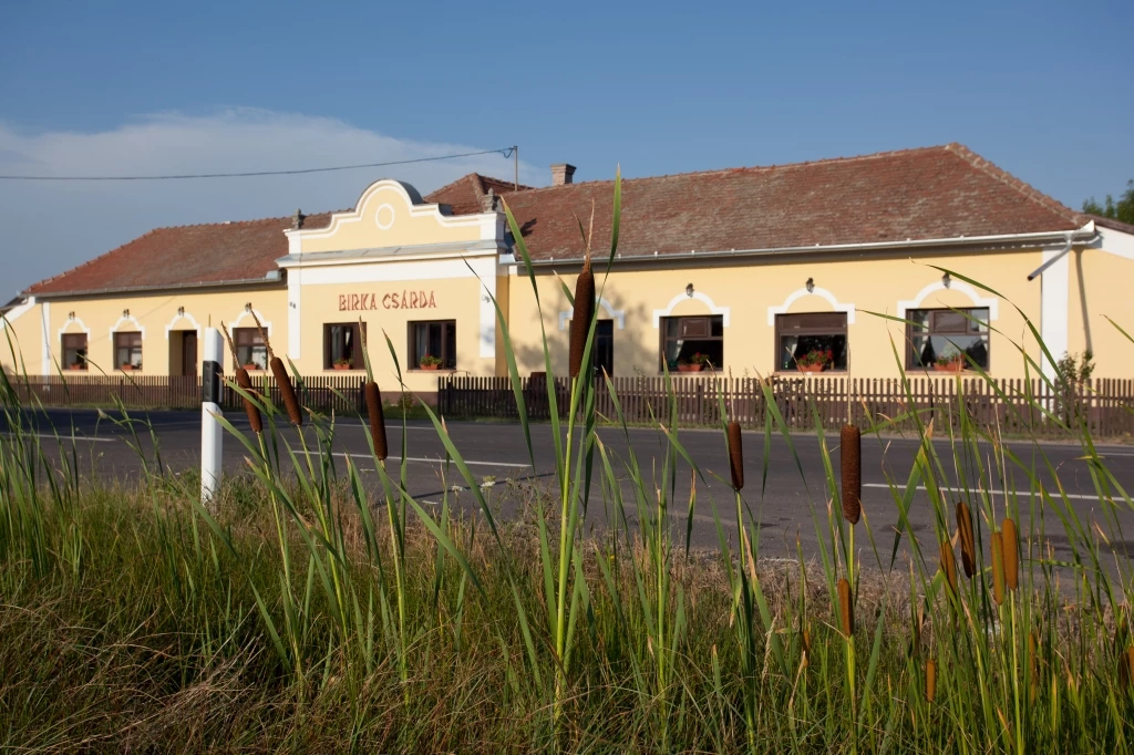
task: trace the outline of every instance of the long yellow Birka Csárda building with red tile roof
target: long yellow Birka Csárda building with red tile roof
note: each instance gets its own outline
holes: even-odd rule
[[[608,277],[613,183],[573,173],[553,167],[544,188],[474,173],[424,198],[380,180],[345,212],[158,229],[32,286],[5,326],[29,374],[146,375],[195,374],[202,328],[221,322],[240,362],[262,368],[253,315],[302,373],[359,370],[364,330],[383,387],[388,338],[428,398],[438,374],[507,374],[494,297],[521,372],[544,368],[541,324],[559,372],[562,287],[593,207],[596,360],[616,375],[704,363],[883,378],[896,348],[907,370],[964,355],[1022,378],[1014,342],[1044,363],[1024,315],[1056,357],[1090,350],[1095,376],[1134,373],[1134,346],[1107,320],[1134,332],[1134,227],[1075,212],[960,145],[627,180]]]

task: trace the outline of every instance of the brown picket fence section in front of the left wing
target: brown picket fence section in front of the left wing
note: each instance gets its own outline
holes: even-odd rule
[[[161,375],[9,375],[24,406],[100,407],[121,402],[128,409],[196,409],[201,407],[201,379]],[[271,373],[253,373],[253,387],[281,406]],[[364,412],[363,380],[358,375],[311,375],[301,381],[301,400],[319,412]],[[243,407],[239,395],[225,387],[221,406]]]

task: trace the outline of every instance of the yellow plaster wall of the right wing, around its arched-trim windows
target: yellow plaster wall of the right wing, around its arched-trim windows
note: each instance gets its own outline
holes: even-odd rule
[[[633,375],[641,372],[658,374],[659,329],[653,325],[655,309],[665,309],[680,296],[668,316],[710,314],[709,305],[685,296],[685,287],[693,283],[699,294],[708,296],[717,307],[729,308],[729,324],[725,328],[725,371],[735,376],[768,374],[775,364],[775,328],[768,324],[768,308],[782,306],[785,300],[804,288],[809,278],[814,285],[830,291],[839,304],[854,304],[857,313],[848,324],[850,374],[863,378],[895,376],[897,365],[890,348],[890,336],[905,358],[902,325],[868,314],[866,311],[895,315],[899,300],[913,300],[919,292],[937,281],[941,274],[928,268],[939,264],[967,274],[975,280],[988,280],[991,286],[1018,304],[1039,322],[1040,287],[1029,283],[1027,273],[1039,266],[1039,251],[1012,253],[971,253],[940,257],[920,257],[915,264],[906,256],[856,260],[796,260],[776,264],[753,261],[747,265],[685,269],[628,269],[616,268],[602,290],[602,297],[616,311],[625,313],[625,330],[613,331],[615,373]],[[560,271],[569,286],[574,286],[576,271]],[[555,370],[567,366],[567,331],[559,330],[559,313],[567,311],[567,302],[559,282],[550,270],[538,275],[543,303],[543,324],[552,347]],[[601,287],[601,275],[599,280]],[[510,295],[510,330],[521,343],[517,359],[521,372],[540,371],[539,322],[534,317],[535,299],[526,274],[521,268],[513,275]],[[991,296],[978,291],[979,296]],[[943,306],[975,306],[956,281],[950,289],[931,292],[921,304],[924,308]],[[789,312],[829,312],[832,305],[816,295],[807,295],[789,306]],[[600,306],[600,317],[609,314]],[[1024,338],[1025,325],[1019,314],[1006,300],[999,304],[999,317],[992,326],[1002,331],[991,334],[991,373],[998,378],[1018,378],[1024,374],[1023,362],[1009,338],[1034,343]],[[663,315],[667,316],[667,315]]]

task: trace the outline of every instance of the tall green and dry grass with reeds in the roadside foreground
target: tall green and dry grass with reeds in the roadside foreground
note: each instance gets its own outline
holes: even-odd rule
[[[618,188],[615,196],[608,270]],[[514,235],[526,263],[523,235]],[[601,294],[598,262],[595,272]],[[499,321],[530,439],[544,431],[526,421]],[[592,322],[582,374],[593,337]],[[894,353],[898,364],[902,346]],[[1024,348],[1019,358],[1039,373]],[[405,461],[387,468],[374,458],[375,481],[338,460],[331,417],[308,412],[289,444],[278,432],[286,415],[254,395],[264,433],[228,425],[248,470],[204,506],[195,476],[169,475],[153,455],[142,457],[144,476],[133,486],[85,476],[77,451],[66,442],[62,453],[49,451],[56,444],[32,432],[34,407],[19,405],[9,380],[19,378],[0,382],[6,749],[1131,748],[1134,570],[1109,543],[1126,542],[1119,515],[1134,502],[1074,416],[1048,416],[1082,449],[1074,469],[1053,468],[1039,442],[1027,453],[1006,447],[963,402],[943,431],[908,417],[920,448],[890,480],[891,508],[866,510],[852,526],[831,463],[838,441],[818,415],[821,466],[805,468],[769,401],[762,474],[733,490],[688,457],[672,401],[657,418],[665,450],[640,459],[631,444],[623,457],[595,433],[594,385],[575,381],[568,419],[551,421],[553,477],[526,490],[521,515],[503,520],[493,498],[500,487],[477,484],[426,407],[450,457],[445,487],[468,487],[460,506],[454,494],[435,506],[413,499]],[[548,398],[556,417],[553,390]],[[615,398],[613,423],[628,433]],[[118,422],[142,449],[144,419]],[[863,442],[885,446],[888,422],[869,417]],[[942,433],[947,447],[932,442]],[[718,468],[728,466],[725,435],[721,427]],[[809,507],[798,524],[819,541],[789,560],[761,557],[753,514],[773,443],[794,458]],[[677,476],[686,474],[693,495],[678,499]],[[1047,482],[1072,474],[1091,481],[1099,502],[1090,509]],[[709,482],[728,494],[709,497]],[[971,576],[958,500],[972,511]],[[913,507],[932,512],[931,528],[911,526]],[[611,526],[593,534],[599,508]],[[718,548],[689,548],[694,509],[716,517]],[[1004,582],[1006,518],[1019,533],[1015,589]],[[1056,528],[1068,538],[1067,558],[1052,554]],[[957,557],[955,589],[942,552]],[[837,597],[844,579],[849,636]]]

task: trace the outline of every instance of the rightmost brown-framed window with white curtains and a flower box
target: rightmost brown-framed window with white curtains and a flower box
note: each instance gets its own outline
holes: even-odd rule
[[[970,359],[989,368],[989,311],[909,309],[906,312],[906,340],[909,343],[907,366],[949,366]],[[962,356],[964,355],[964,356]]]

